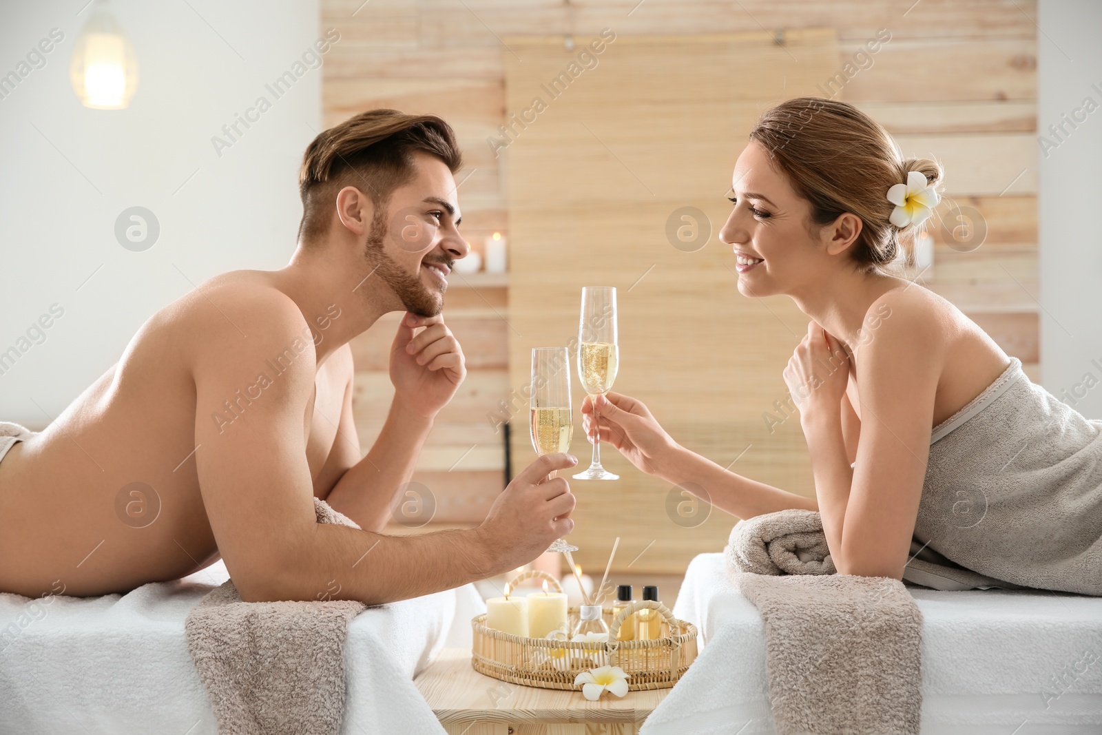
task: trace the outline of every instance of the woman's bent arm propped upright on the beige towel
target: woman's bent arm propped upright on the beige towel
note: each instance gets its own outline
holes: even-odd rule
[[[861,442],[852,471],[841,401],[831,393],[838,386],[828,379],[800,406],[823,531],[843,574],[900,579],[907,564],[943,354],[938,324],[919,299],[903,292],[882,296],[892,318],[854,356],[862,376]],[[814,329],[821,333],[818,325]],[[825,352],[825,342],[812,338],[803,367]]]

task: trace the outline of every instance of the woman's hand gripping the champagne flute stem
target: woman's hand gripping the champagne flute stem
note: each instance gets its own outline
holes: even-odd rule
[[[642,401],[613,391],[597,396],[595,421],[593,400],[587,396],[582,402],[582,425],[591,442],[599,425],[601,441],[619,450],[638,469],[659,476],[669,471],[680,446]]]

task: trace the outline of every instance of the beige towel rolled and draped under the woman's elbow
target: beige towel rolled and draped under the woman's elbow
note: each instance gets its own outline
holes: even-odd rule
[[[917,735],[922,615],[901,582],[835,574],[812,510],[739,521],[724,554],[765,623],[778,735]]]

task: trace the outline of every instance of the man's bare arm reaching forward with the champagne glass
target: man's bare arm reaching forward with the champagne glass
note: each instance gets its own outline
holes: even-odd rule
[[[573,529],[566,482],[547,480],[576,464],[568,455],[526,468],[476,529],[385,537],[317,523],[303,428],[315,361],[300,336],[302,315],[281,294],[209,295],[226,318],[212,310],[196,339],[196,463],[242,599],[404,599],[515,569]],[[285,356],[279,374],[270,367],[277,355]]]

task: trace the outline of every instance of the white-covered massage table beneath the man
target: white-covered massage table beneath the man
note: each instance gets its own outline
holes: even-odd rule
[[[121,596],[45,604],[0,594],[0,733],[215,735],[184,619],[226,579],[218,562]],[[342,734],[443,735],[412,680],[442,648],[469,649],[471,618],[484,612],[466,585],[356,617],[344,647]]]

